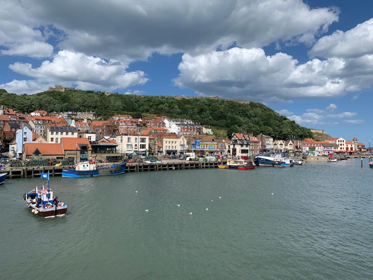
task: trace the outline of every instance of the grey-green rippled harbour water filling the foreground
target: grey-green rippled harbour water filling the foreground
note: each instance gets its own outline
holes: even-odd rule
[[[373,279],[364,160],[55,177],[69,209],[50,219],[22,197],[42,179],[7,180],[1,278]]]

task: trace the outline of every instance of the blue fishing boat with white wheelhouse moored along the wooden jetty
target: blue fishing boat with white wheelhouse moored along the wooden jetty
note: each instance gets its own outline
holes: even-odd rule
[[[75,169],[62,169],[62,177],[96,177],[122,174],[126,171],[126,162],[110,166],[97,167],[97,161],[85,161],[76,164]]]

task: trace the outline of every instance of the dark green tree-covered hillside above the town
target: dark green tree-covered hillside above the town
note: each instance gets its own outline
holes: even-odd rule
[[[0,90],[0,105],[32,112],[37,109],[51,111],[96,111],[109,117],[114,113],[141,115],[167,115],[171,118],[190,118],[215,130],[245,131],[254,135],[260,132],[280,138],[312,137],[312,132],[294,121],[280,116],[261,103],[242,104],[229,100],[175,99],[173,97],[110,95],[94,91],[44,91],[37,94],[17,95]]]

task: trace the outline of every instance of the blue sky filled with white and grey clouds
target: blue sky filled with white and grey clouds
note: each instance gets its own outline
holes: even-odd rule
[[[301,0],[0,0],[0,88],[261,102],[373,142],[373,5]],[[15,16],[16,15],[16,16]]]

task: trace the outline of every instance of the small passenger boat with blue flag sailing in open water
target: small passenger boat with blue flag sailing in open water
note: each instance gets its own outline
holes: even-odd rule
[[[68,211],[68,206],[58,200],[58,196],[53,196],[53,191],[49,188],[49,172],[41,173],[40,178],[47,179],[41,190],[36,187],[34,190],[23,194],[26,205],[35,215],[44,218],[64,216]]]

